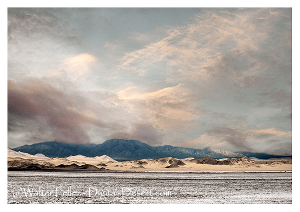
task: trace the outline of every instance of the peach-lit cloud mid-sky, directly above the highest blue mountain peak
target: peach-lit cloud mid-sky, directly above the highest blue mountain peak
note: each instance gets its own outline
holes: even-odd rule
[[[194,96],[181,84],[153,92],[128,87],[118,94],[132,113],[139,113],[140,118],[161,129],[178,127],[179,131],[187,130],[195,118]]]

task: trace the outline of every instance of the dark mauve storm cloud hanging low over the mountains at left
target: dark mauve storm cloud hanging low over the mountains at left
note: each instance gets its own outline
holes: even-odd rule
[[[9,127],[13,130],[20,120],[38,121],[42,118],[45,122],[39,124],[49,125],[57,141],[88,143],[87,127],[105,126],[95,117],[77,111],[80,106],[77,98],[84,104],[85,99],[80,95],[66,94],[38,79],[31,78],[26,82],[9,80]]]

